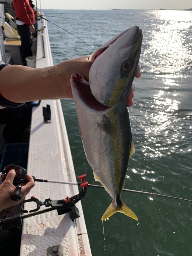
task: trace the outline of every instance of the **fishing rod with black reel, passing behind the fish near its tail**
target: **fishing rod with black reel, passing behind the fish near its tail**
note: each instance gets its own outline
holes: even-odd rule
[[[18,165],[7,165],[5,166],[4,170],[2,171],[1,174],[1,180],[4,181],[6,178],[7,173],[9,170],[14,169],[16,172],[15,178],[13,180],[13,185],[16,187],[15,191],[13,192],[11,198],[14,201],[18,201],[21,199],[21,184],[26,181],[26,176],[27,176],[27,171],[26,169],[18,166]],[[80,179],[82,179],[82,182],[66,182],[66,181],[57,181],[57,180],[43,180],[43,179],[36,179],[35,176],[32,176],[34,181],[37,182],[46,182],[46,183],[57,183],[57,184],[66,184],[66,185],[76,185],[76,186],[81,186],[81,187],[92,187],[92,188],[104,188],[103,186],[100,185],[93,185],[89,184],[88,182],[84,181],[84,177],[86,175],[79,176]],[[139,193],[139,194],[145,194],[145,195],[150,195],[150,196],[162,196],[162,197],[167,197],[171,199],[177,199],[177,200],[182,200],[182,201],[187,201],[187,202],[192,202],[192,200],[185,199],[185,198],[180,198],[180,197],[175,197],[175,196],[168,196],[168,195],[162,195],[162,194],[157,194],[157,193],[152,193],[152,192],[146,192],[146,191],[139,191],[139,190],[132,190],[132,189],[126,189],[123,188],[123,191],[126,192],[132,192],[132,193]]]

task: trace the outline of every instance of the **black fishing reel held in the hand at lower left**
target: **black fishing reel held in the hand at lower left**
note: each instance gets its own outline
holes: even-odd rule
[[[9,164],[4,167],[1,173],[1,180],[2,182],[6,179],[6,176],[10,170],[15,170],[15,177],[13,180],[13,186],[15,186],[15,190],[11,195],[11,199],[13,201],[19,201],[21,199],[21,187],[22,183],[27,182],[27,170],[23,167],[16,165],[16,164]]]

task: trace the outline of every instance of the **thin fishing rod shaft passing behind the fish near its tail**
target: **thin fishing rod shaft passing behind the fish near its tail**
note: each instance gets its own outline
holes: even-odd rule
[[[82,183],[79,183],[79,182],[78,183],[74,183],[74,182],[64,182],[64,181],[56,181],[56,180],[41,180],[41,179],[36,179],[36,178],[35,178],[35,181],[50,182],[50,183],[60,183],[60,184],[68,184],[68,185],[77,185],[77,186],[81,186],[81,184],[82,184]],[[93,185],[93,184],[88,184],[87,187],[104,188],[103,186]],[[126,188],[123,188],[123,191],[132,192],[132,193],[139,193],[139,194],[145,194],[145,195],[150,195],[150,196],[163,196],[163,197],[167,197],[167,198],[172,198],[172,199],[192,202],[192,200],[189,200],[189,199],[175,197],[175,196],[167,196],[167,195],[162,195],[162,194],[157,194],[157,193],[152,193],[152,192],[145,192],[145,191],[139,191],[139,190],[126,189]]]

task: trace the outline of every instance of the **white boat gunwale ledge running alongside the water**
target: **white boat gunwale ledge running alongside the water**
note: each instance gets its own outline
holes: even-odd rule
[[[46,26],[44,20],[43,26]],[[45,58],[41,57],[40,34],[38,32],[36,68],[52,65],[47,28],[43,32]],[[42,107],[47,104],[51,107],[51,123],[44,123]],[[40,106],[33,108],[27,170],[37,179],[76,182],[60,100],[43,100]],[[74,185],[36,182],[25,199],[35,196],[44,202],[47,198],[59,200],[78,193],[79,190]],[[58,216],[56,210],[24,219],[20,256],[91,255],[80,201],[76,207],[80,218],[75,221],[71,220],[69,213]],[[25,204],[25,210],[31,209],[34,209],[33,203]],[[40,210],[42,209],[45,207]],[[61,250],[53,252],[51,247],[59,245],[62,246]]]

